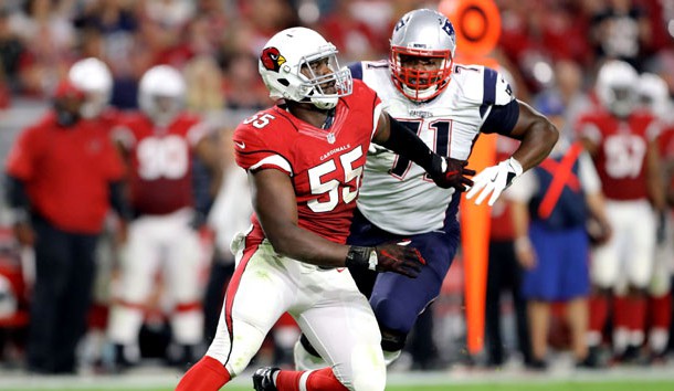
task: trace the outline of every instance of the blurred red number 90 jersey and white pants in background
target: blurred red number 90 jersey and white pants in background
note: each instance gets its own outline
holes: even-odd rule
[[[162,272],[172,305],[175,341],[197,345],[202,340],[201,277],[204,254],[193,219],[193,147],[206,134],[196,116],[181,114],[166,127],[147,116],[130,115],[116,131],[128,151],[131,208],[122,256],[122,278],[108,334],[120,345],[136,341],[145,306]]]

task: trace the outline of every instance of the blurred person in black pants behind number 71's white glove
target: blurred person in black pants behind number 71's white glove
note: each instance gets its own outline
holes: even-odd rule
[[[517,148],[517,142],[498,137],[496,161],[501,161]],[[506,198],[509,193],[506,190]],[[487,366],[502,367],[506,360],[503,340],[502,295],[508,290],[517,329],[517,348],[525,366],[531,364],[531,348],[527,320],[526,300],[522,297],[522,277],[524,268],[515,256],[515,232],[513,228],[510,204],[499,199],[492,207],[492,230],[489,231],[489,260],[487,264],[487,293],[485,331],[487,342]]]

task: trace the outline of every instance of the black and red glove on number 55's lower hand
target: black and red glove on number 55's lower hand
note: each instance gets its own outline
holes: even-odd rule
[[[409,244],[409,243],[408,243]],[[375,247],[349,247],[345,265],[375,272],[393,272],[417,278],[425,260],[419,250],[403,243],[385,243]]]

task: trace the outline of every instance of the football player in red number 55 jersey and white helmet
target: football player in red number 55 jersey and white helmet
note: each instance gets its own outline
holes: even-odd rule
[[[234,134],[238,163],[252,183],[252,228],[232,242],[236,271],[218,334],[177,387],[219,390],[241,374],[276,319],[288,311],[330,367],[261,368],[256,390],[367,390],[386,385],[381,336],[347,266],[415,277],[424,261],[404,242],[345,245],[370,141],[423,167],[438,186],[464,190],[474,171],[432,152],[382,113],[377,94],[337,64],[336,47],[292,28],[262,50],[272,98]]]

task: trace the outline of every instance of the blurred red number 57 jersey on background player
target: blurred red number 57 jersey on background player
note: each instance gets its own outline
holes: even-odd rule
[[[581,137],[599,146],[594,166],[608,199],[649,197],[646,152],[649,142],[660,133],[655,117],[646,112],[634,112],[621,120],[605,110],[598,110],[580,117],[577,129]]]

